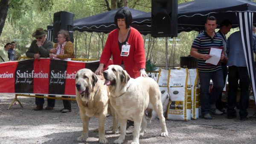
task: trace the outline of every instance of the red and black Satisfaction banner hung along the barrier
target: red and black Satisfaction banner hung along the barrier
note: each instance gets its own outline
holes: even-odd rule
[[[99,67],[92,62],[29,59],[0,63],[0,93],[76,95],[75,78],[79,69]]]

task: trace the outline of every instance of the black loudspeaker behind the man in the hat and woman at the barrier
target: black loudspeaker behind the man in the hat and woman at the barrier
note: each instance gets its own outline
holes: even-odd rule
[[[64,29],[69,32],[70,41],[74,42],[73,38],[73,24],[74,24],[75,14],[66,11],[60,11],[53,14],[53,32],[52,40],[57,43],[58,35],[57,33]]]

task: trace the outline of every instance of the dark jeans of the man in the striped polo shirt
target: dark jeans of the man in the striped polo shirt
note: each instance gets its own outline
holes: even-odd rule
[[[209,95],[209,85],[212,79],[213,89],[211,95]],[[218,96],[224,88],[222,70],[215,72],[199,72],[200,80],[200,99],[201,99],[201,112],[206,115],[211,110],[211,105],[215,104]]]

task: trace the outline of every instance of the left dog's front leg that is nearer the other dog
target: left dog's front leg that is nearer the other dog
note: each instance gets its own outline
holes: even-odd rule
[[[106,115],[100,114],[98,116],[98,122],[99,122],[99,143],[100,144],[107,144],[108,140],[105,137],[105,121],[106,121]]]

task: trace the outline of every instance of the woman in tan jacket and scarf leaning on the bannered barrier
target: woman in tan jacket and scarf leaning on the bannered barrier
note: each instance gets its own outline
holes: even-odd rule
[[[74,47],[70,41],[69,34],[66,30],[61,29],[58,33],[58,43],[55,43],[53,49],[50,49],[51,59],[67,60],[67,58],[74,58]],[[63,98],[69,98],[63,96]],[[62,113],[71,112],[71,101],[63,100],[64,108],[61,109]]]

